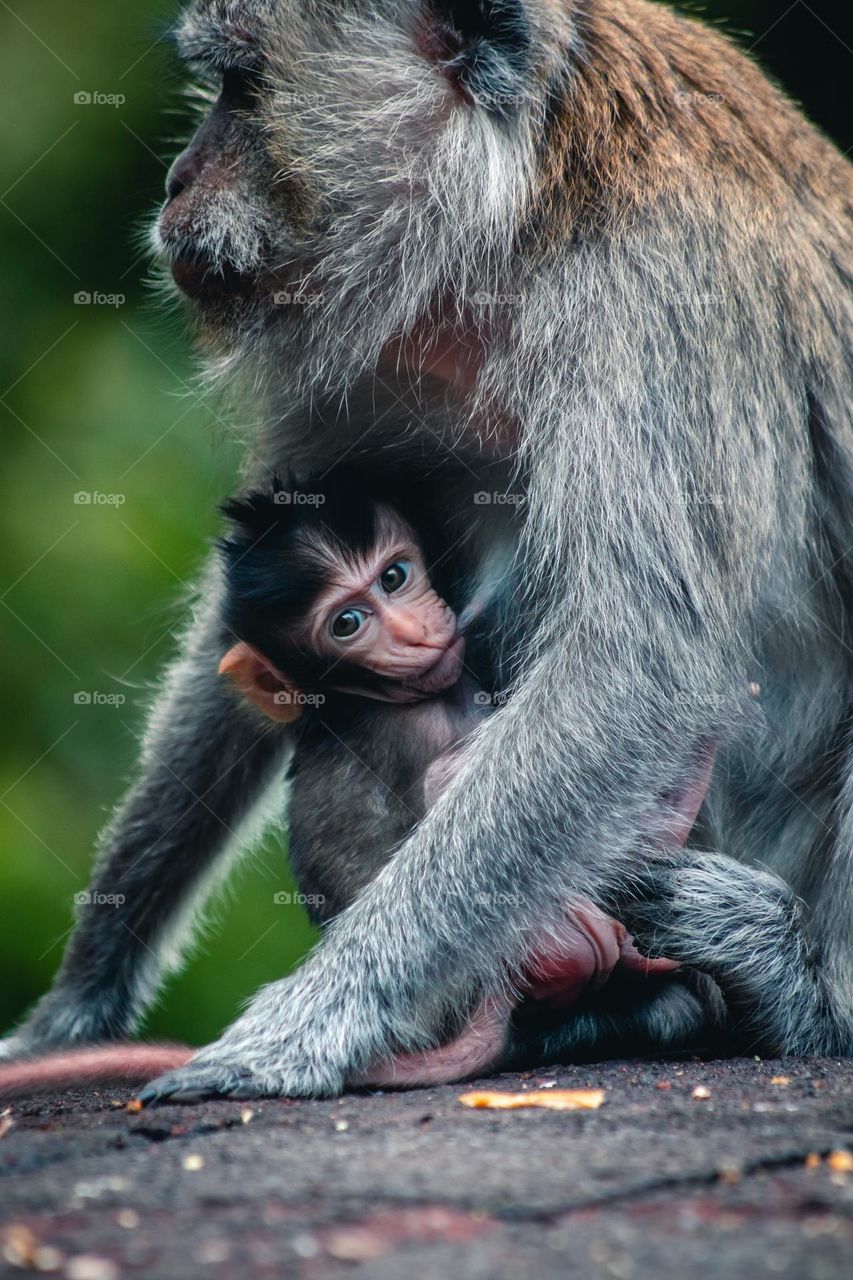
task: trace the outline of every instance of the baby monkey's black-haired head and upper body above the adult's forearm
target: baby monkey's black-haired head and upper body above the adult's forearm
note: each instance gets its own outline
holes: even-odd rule
[[[369,831],[355,836],[369,861],[366,882],[378,855],[388,855],[455,776],[457,748],[491,696],[478,627],[489,593],[483,586],[457,617],[444,599],[452,567],[444,594],[428,568],[428,558],[439,558],[435,538],[415,532],[398,499],[365,495],[364,486],[347,474],[323,489],[278,488],[225,504],[223,622],[237,643],[219,669],[270,719],[301,721],[289,805],[297,874],[306,859],[314,874],[320,869],[318,841],[329,842],[328,814],[343,804],[336,858],[341,833],[351,841],[353,824],[373,815]],[[319,714],[302,716],[311,707]],[[337,758],[330,772],[305,767],[306,755],[329,751]],[[321,780],[321,797],[310,778],[315,787]],[[327,887],[325,916],[353,886],[347,876],[346,888]]]

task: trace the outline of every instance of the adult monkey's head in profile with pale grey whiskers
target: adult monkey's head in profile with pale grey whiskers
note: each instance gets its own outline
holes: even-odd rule
[[[537,186],[555,9],[190,5],[177,41],[205,115],[154,243],[213,352],[274,342],[292,366],[305,344],[343,371],[425,316],[488,305]]]

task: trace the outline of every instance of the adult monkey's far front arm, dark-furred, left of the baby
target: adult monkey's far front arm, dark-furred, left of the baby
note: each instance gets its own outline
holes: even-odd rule
[[[205,585],[204,599],[211,593]],[[141,777],[102,838],[55,984],[0,1056],[126,1036],[177,964],[192,908],[225,869],[220,855],[237,845],[287,740],[228,696],[220,648],[213,603],[167,677]]]

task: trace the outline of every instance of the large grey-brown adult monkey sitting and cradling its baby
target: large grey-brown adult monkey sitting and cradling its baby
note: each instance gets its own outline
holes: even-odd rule
[[[402,401],[470,527],[435,430],[473,488],[517,463],[525,605],[515,694],[456,782],[304,968],[150,1096],[336,1092],[488,997],[570,893],[712,974],[757,1042],[849,1052],[849,168],[725,41],[642,0],[209,0],[179,37],[218,88],[159,238],[214,364],[266,392],[255,453],[333,465],[348,396],[375,403],[357,447],[382,466]],[[105,838],[96,887],[126,905],[85,910],[10,1051],[132,1027],[280,765],[286,735],[259,740],[215,666],[202,616]],[[708,744],[725,855],[646,847]],[[703,1016],[688,995],[648,1001],[652,1039]]]

